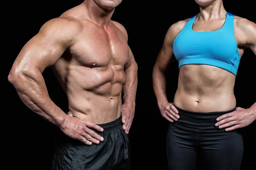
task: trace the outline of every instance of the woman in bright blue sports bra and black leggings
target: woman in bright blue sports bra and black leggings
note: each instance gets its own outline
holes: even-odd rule
[[[168,30],[153,71],[162,116],[170,121],[170,170],[239,170],[243,140],[239,128],[256,119],[256,103],[236,108],[234,84],[242,54],[256,54],[256,24],[228,13],[222,0],[195,0],[200,13]],[[165,71],[179,62],[174,102],[166,96]],[[171,77],[169,77],[171,78]]]

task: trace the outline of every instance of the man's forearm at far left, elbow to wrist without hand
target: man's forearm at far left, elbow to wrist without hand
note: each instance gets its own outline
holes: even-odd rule
[[[58,127],[63,125],[64,117],[67,115],[50,99],[39,70],[17,73],[11,71],[8,79],[26,106],[52,124]]]

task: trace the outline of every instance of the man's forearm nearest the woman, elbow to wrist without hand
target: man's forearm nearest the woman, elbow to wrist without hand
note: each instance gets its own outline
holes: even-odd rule
[[[125,69],[126,79],[123,87],[123,99],[124,102],[128,102],[133,105],[135,105],[136,91],[138,85],[137,71],[138,66],[136,62],[134,62]]]

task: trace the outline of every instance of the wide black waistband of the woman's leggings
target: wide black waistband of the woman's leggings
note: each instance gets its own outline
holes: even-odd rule
[[[220,129],[219,127],[215,126],[215,123],[218,121],[216,120],[219,116],[230,113],[235,111],[236,108],[233,108],[230,111],[218,111],[218,112],[192,112],[187,111],[175,106],[179,111],[178,115],[180,119],[170,123],[170,125],[176,125],[180,127],[185,127],[188,129],[193,130],[218,130],[218,131],[225,131],[225,128]]]

